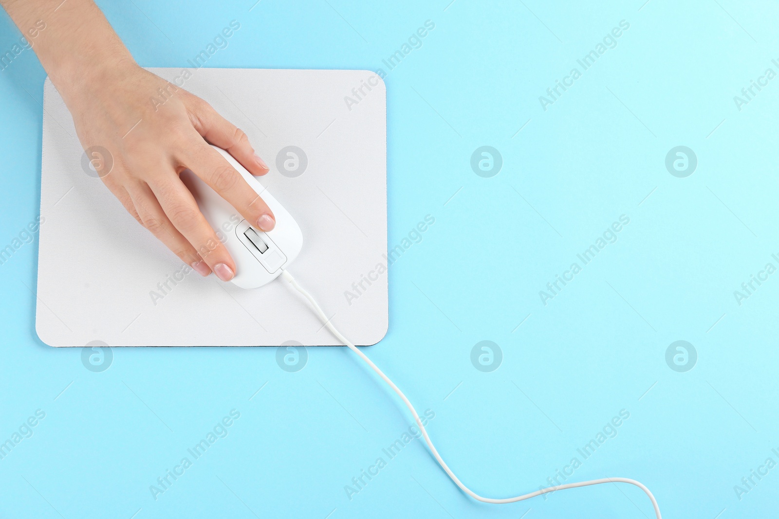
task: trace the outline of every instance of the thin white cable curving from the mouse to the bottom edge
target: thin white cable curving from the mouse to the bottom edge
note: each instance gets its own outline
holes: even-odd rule
[[[435,447],[433,446],[430,437],[428,437],[428,432],[425,430],[425,426],[422,425],[421,419],[419,419],[419,415],[417,414],[417,411],[414,409],[414,406],[411,405],[411,402],[408,401],[406,395],[403,394],[403,391],[400,391],[400,389],[395,385],[395,383],[392,380],[390,380],[390,378],[387,377],[384,373],[382,373],[382,370],[379,370],[379,366],[376,366],[371,359],[368,359],[368,356],[366,356],[365,353],[357,349],[357,347],[351,342],[349,342],[349,340],[346,337],[344,337],[344,335],[340,334],[340,331],[338,331],[333,326],[333,324],[330,323],[330,319],[328,319],[325,313],[322,311],[322,309],[319,308],[319,304],[316,303],[316,301],[311,296],[311,294],[306,292],[305,289],[303,289],[303,287],[298,285],[298,282],[295,281],[294,277],[292,277],[292,275],[289,272],[287,272],[286,270],[281,271],[281,277],[284,279],[284,281],[289,282],[294,287],[294,289],[296,289],[299,293],[305,296],[308,302],[311,303],[312,307],[314,307],[314,310],[316,311],[316,314],[319,316],[319,319],[321,319],[322,322],[325,324],[325,326],[328,329],[330,329],[330,331],[333,332],[333,335],[335,335],[338,338],[338,340],[340,340],[340,342],[343,342],[345,345],[349,347],[349,349],[351,349],[351,351],[357,353],[361,359],[365,360],[365,362],[368,363],[368,366],[371,366],[372,369],[379,374],[379,377],[382,377],[382,379],[384,379],[384,381],[387,384],[389,384],[390,387],[393,388],[393,390],[403,400],[408,410],[411,411],[411,414],[414,416],[414,420],[416,420],[417,426],[419,426],[419,430],[421,430],[422,432],[422,436],[425,437],[425,442],[428,444],[430,451],[433,453],[433,456],[435,456],[435,460],[439,462],[441,468],[444,469],[446,474],[449,475],[449,478],[452,479],[452,481],[456,484],[456,486],[459,486],[464,493],[467,493],[469,496],[473,497],[474,500],[481,501],[482,503],[494,503],[494,504],[516,503],[517,501],[527,500],[530,499],[530,497],[541,496],[541,494],[545,494],[548,492],[555,492],[557,490],[575,489],[580,486],[600,485],[601,483],[612,483],[612,482],[629,483],[631,485],[635,485],[638,488],[642,489],[644,493],[646,493],[647,496],[649,496],[649,499],[652,501],[652,507],[654,507],[655,516],[657,516],[657,519],[662,519],[660,515],[660,507],[657,506],[657,500],[654,499],[654,496],[652,495],[650,490],[647,489],[646,486],[643,486],[641,482],[629,478],[602,478],[602,479],[592,479],[590,481],[583,481],[578,483],[566,483],[565,485],[550,486],[546,489],[540,489],[540,490],[536,490],[535,492],[524,494],[523,496],[507,497],[506,499],[493,499],[491,497],[482,497],[479,496],[477,493],[474,493],[473,490],[469,489],[462,482],[460,482],[460,479],[457,479],[457,476],[454,475],[454,472],[452,472],[451,469],[449,469],[449,466],[446,465],[446,463],[443,461],[441,455],[438,453],[438,451],[435,450]]]

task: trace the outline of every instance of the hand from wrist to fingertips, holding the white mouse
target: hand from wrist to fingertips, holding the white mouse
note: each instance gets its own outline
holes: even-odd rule
[[[100,178],[182,261],[201,275],[213,271],[229,281],[234,262],[178,174],[192,170],[252,225],[268,231],[273,213],[208,142],[253,175],[266,174],[268,167],[245,133],[199,97],[134,63],[102,74],[67,96],[84,149],[100,146],[111,153],[112,161],[100,161],[104,167],[112,162],[110,172],[97,167]]]

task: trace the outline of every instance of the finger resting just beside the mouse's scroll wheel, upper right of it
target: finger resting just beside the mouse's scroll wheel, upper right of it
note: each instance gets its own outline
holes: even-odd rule
[[[253,226],[264,231],[273,230],[276,226],[273,212],[216,149],[201,142],[189,146],[183,158],[185,167],[230,202]]]

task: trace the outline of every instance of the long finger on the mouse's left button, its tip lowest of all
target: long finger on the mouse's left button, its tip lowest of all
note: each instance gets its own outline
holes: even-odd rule
[[[222,281],[233,279],[235,263],[230,253],[198,209],[195,198],[181,179],[171,175],[149,187],[167,218],[189,244],[192,244],[213,273]]]

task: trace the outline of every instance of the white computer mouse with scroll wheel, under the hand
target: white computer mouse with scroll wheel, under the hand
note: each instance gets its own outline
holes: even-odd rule
[[[237,160],[218,146],[216,149],[241,177],[263,198],[276,218],[276,226],[263,232],[250,224],[230,202],[190,170],[181,178],[192,192],[200,212],[206,217],[217,237],[235,261],[235,277],[231,280],[242,289],[256,289],[276,279],[291,264],[303,247],[303,233],[292,215],[273,198],[259,181]]]

